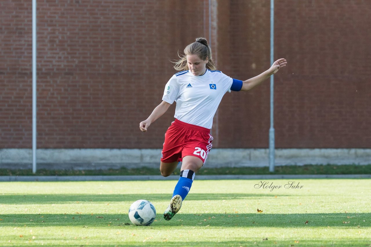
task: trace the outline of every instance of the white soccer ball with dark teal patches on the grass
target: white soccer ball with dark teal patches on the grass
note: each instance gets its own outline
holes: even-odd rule
[[[150,201],[138,200],[129,208],[129,219],[135,225],[150,226],[155,218],[156,209]]]

